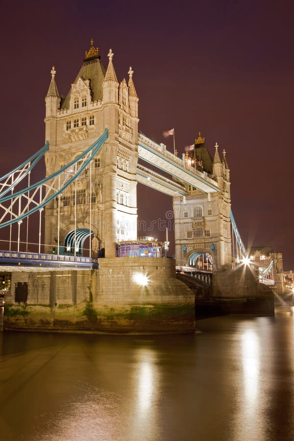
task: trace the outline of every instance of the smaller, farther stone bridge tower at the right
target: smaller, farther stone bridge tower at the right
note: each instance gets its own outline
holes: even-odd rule
[[[202,270],[232,268],[230,171],[225,151],[220,159],[218,145],[212,159],[199,133],[191,158],[196,170],[216,179],[220,192],[201,192],[186,184],[188,196],[173,198],[176,265]]]

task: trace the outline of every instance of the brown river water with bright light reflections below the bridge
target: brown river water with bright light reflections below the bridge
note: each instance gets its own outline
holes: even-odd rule
[[[194,335],[0,333],[0,440],[294,440],[294,316]]]

